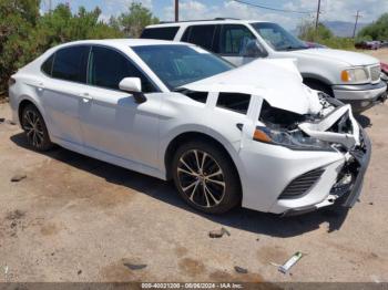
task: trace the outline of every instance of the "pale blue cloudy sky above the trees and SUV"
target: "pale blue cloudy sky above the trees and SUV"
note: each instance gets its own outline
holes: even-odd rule
[[[102,20],[118,15],[127,10],[132,1],[141,2],[151,9],[161,21],[174,19],[174,0],[51,0],[54,7],[58,3],[69,2],[75,12],[78,7],[84,6],[88,10],[100,7]],[[244,0],[245,2],[267,6],[277,9],[296,11],[316,11],[318,0]],[[42,11],[49,9],[50,0],[42,0]],[[321,0],[320,20],[355,21],[357,10],[363,15],[360,22],[372,22],[381,13],[388,12],[388,0]],[[229,17],[238,19],[254,19],[277,22],[288,30],[295,29],[302,21],[315,18],[315,12],[286,13],[274,12],[245,6],[234,0],[180,0],[180,20],[213,19]]]

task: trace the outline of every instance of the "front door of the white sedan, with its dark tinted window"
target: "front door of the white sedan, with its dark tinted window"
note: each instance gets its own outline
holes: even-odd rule
[[[126,55],[110,48],[92,48],[88,75],[81,108],[86,149],[155,168],[162,94]],[[142,80],[146,102],[136,103],[131,93],[120,91],[124,77]]]

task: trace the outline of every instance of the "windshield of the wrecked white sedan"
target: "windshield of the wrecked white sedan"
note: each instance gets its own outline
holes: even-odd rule
[[[132,50],[170,90],[234,69],[231,63],[197,46],[146,45]]]

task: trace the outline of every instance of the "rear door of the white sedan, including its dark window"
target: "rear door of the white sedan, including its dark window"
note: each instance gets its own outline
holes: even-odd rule
[[[42,65],[45,77],[39,84],[50,124],[50,134],[70,145],[82,145],[80,106],[86,87],[90,46],[74,45],[58,50]]]

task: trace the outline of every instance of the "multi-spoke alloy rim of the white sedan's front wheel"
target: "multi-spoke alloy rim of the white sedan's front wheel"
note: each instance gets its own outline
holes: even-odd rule
[[[200,207],[215,207],[224,198],[224,173],[214,157],[206,152],[185,152],[178,159],[177,178],[182,191]]]

